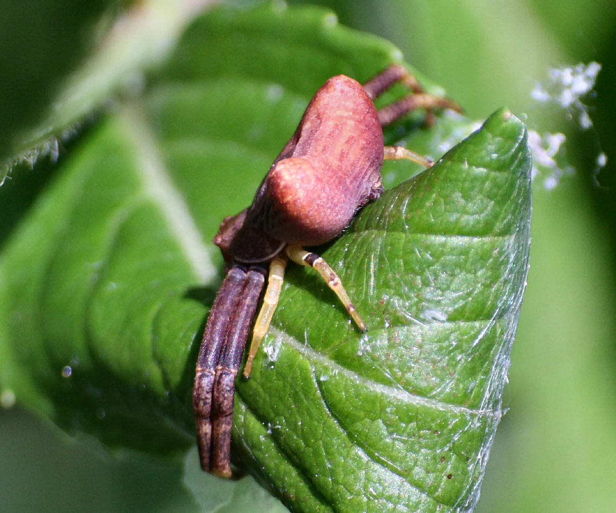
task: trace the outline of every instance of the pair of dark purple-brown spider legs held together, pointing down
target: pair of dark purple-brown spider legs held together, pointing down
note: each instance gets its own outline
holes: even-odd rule
[[[193,411],[201,469],[230,477],[235,376],[263,284],[265,269],[233,266],[219,289],[201,340]]]

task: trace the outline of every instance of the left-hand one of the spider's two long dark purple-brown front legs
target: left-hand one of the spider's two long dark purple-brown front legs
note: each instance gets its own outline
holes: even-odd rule
[[[201,469],[206,472],[210,470],[212,435],[210,417],[216,367],[222,348],[227,343],[226,337],[231,326],[233,311],[241,300],[247,279],[246,272],[238,266],[233,266],[227,273],[209,311],[208,322],[199,348],[192,403]]]

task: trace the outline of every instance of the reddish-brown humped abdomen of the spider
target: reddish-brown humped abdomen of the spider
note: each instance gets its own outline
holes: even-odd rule
[[[359,82],[334,76],[310,101],[247,216],[274,239],[323,244],[348,226],[358,208],[379,197],[382,164],[375,105]]]

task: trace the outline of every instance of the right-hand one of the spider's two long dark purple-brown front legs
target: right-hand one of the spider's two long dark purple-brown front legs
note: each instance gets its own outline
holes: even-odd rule
[[[229,322],[224,348],[216,366],[211,409],[211,454],[209,471],[221,477],[231,476],[231,429],[235,377],[244,353],[248,329],[257,310],[265,281],[265,269],[252,267]]]

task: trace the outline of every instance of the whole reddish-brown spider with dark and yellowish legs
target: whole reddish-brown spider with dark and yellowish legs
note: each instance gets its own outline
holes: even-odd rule
[[[394,83],[413,94],[383,109],[373,100]],[[248,377],[278,303],[288,258],[312,266],[338,295],[360,330],[366,325],[333,269],[302,246],[339,236],[355,213],[378,199],[385,158],[431,160],[402,147],[385,147],[381,126],[417,107],[432,119],[436,108],[459,110],[445,98],[426,94],[400,65],[364,86],[348,76],[330,78],[312,97],[298,129],[274,160],[250,207],[226,218],[214,242],[229,266],[209,314],[199,351],[193,409],[201,468],[229,477],[235,377],[269,265],[268,287],[254,327],[244,369]]]

